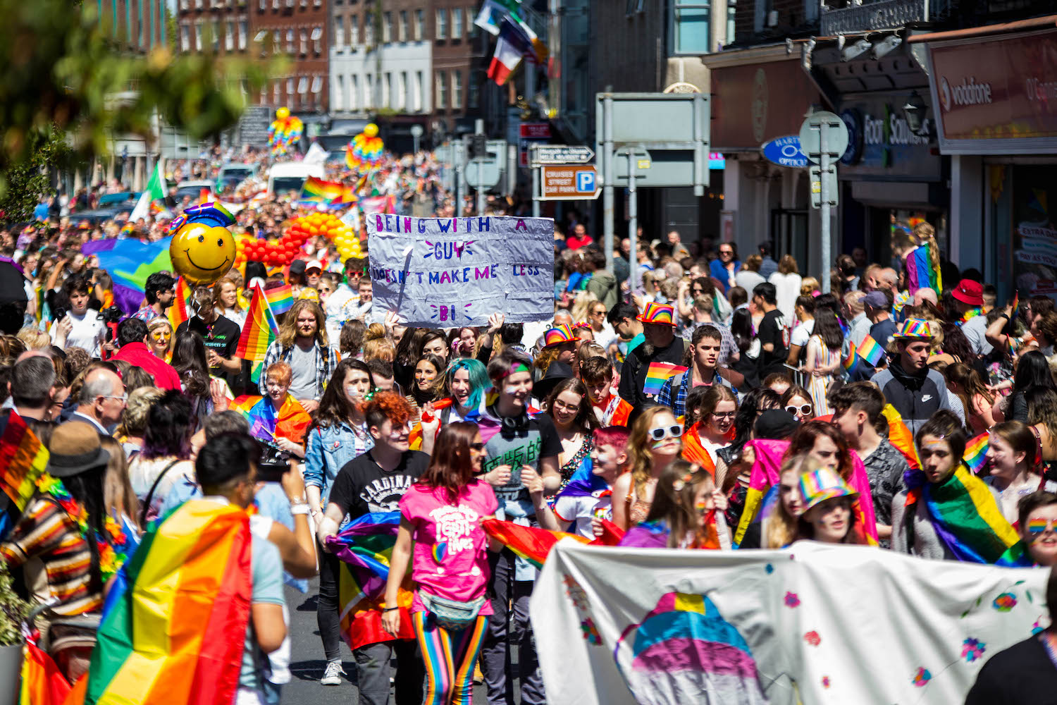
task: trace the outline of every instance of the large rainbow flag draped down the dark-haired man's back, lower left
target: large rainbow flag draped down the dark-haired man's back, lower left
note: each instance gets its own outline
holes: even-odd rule
[[[184,502],[148,531],[118,578],[86,705],[230,705],[253,597],[246,513]]]

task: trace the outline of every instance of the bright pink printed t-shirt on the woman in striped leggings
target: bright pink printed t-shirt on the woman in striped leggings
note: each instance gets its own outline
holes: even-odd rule
[[[492,485],[474,480],[448,500],[445,489],[415,483],[400,500],[401,515],[413,526],[411,572],[419,587],[431,595],[461,601],[484,594],[488,582],[488,537],[481,519],[496,513],[499,502]],[[425,607],[415,591],[412,612]],[[480,614],[492,614],[485,601]]]

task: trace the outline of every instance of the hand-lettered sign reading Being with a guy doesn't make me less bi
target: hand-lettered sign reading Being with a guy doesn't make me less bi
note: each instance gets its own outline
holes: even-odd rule
[[[410,218],[368,214],[374,308],[407,326],[486,326],[554,316],[550,218]]]

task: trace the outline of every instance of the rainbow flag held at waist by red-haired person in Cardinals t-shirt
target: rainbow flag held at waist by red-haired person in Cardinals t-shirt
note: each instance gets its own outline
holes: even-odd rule
[[[346,524],[336,536],[327,539],[331,551],[341,560],[338,610],[341,636],[351,649],[394,638],[382,629],[382,608],[385,606],[389,560],[396,543],[397,528],[400,512],[365,514]],[[409,569],[397,598],[401,620],[395,638],[414,638],[410,612],[411,587]]]

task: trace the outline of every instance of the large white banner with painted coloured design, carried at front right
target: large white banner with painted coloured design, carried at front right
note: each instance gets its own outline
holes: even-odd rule
[[[961,703],[984,662],[1049,625],[1049,574],[811,541],[565,540],[531,616],[552,703]]]

